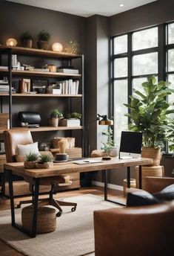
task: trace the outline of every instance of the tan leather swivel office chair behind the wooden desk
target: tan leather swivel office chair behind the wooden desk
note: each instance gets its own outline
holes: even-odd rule
[[[4,146],[7,162],[16,161],[16,147],[18,144],[26,145],[32,144],[33,138],[28,129],[9,129],[4,131]],[[53,199],[53,193],[58,191],[58,187],[62,185],[71,185],[71,181],[67,182],[69,176],[56,176],[49,179],[41,179],[40,185],[50,185],[50,196],[47,199],[39,199],[39,207],[43,205],[53,205],[58,208],[57,217],[61,216],[62,209],[61,206],[73,206],[71,211],[76,211],[76,202],[64,202]],[[27,176],[24,176],[24,180],[30,184],[30,191],[33,192],[33,179],[29,179]],[[17,207],[19,208],[21,204],[32,203],[33,200],[25,200],[19,202]]]

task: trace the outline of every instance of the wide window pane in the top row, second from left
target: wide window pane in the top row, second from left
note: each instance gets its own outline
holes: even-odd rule
[[[158,28],[133,33],[133,51],[158,46]]]

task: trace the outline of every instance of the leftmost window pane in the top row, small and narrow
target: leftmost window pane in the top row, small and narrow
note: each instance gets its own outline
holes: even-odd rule
[[[127,35],[114,38],[114,54],[127,52]]]

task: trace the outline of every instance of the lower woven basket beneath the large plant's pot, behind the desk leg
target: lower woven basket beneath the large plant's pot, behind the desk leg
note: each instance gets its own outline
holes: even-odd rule
[[[136,186],[139,187],[138,181],[138,167],[135,167],[135,179],[136,179]],[[147,176],[153,177],[162,177],[164,176],[164,167],[161,165],[155,166],[142,166],[142,189],[144,190],[144,178]]]

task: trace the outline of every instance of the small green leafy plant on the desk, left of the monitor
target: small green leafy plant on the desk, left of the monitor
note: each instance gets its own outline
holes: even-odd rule
[[[101,143],[103,144],[101,150],[103,150],[104,153],[106,153],[107,156],[109,156],[112,147],[115,146],[115,141],[113,140],[113,129],[109,127],[107,132],[102,132],[102,135],[104,136],[105,141],[101,141]]]

